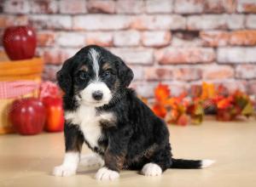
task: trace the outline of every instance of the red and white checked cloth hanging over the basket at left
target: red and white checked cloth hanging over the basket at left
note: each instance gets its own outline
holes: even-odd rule
[[[0,99],[17,98],[30,94],[39,86],[40,84],[34,81],[0,82]]]

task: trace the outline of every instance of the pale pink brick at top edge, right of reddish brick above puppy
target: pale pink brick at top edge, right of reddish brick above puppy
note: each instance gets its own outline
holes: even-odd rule
[[[118,0],[116,11],[121,14],[140,14],[144,11],[144,6],[142,0]]]

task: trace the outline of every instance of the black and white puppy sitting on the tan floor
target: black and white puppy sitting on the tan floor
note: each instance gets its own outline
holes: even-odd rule
[[[122,169],[157,176],[167,168],[201,168],[211,160],[172,158],[166,123],[128,88],[133,72],[107,49],[90,45],[67,59],[57,73],[65,95],[66,154],[54,175],[76,173],[82,144],[96,156],[86,165],[102,164],[97,179],[119,178]]]

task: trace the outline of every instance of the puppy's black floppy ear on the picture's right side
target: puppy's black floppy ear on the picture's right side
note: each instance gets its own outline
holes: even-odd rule
[[[125,65],[125,62],[119,58],[117,63],[117,69],[118,69],[119,80],[121,82],[121,85],[127,88],[134,77],[133,72],[131,71],[131,68]]]

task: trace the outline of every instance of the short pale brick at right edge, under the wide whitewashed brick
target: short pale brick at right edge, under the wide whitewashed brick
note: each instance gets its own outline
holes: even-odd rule
[[[256,65],[237,65],[236,66],[237,78],[256,78]]]

